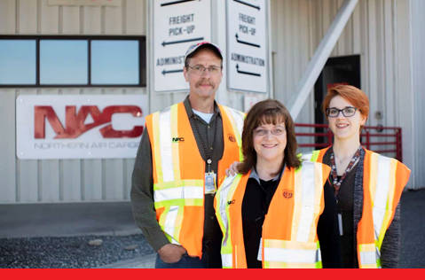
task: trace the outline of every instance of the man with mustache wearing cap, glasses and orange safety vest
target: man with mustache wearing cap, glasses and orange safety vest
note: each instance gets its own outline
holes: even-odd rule
[[[184,75],[185,101],[146,117],[132,175],[133,214],[157,252],[155,268],[221,268],[214,197],[224,170],[242,159],[244,113],[216,104],[223,56],[215,44],[193,44]]]

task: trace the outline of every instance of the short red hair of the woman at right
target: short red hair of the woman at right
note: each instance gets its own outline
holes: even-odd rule
[[[358,108],[358,111],[367,119],[369,116],[369,98],[366,96],[366,93],[361,89],[346,85],[338,85],[327,90],[327,96],[322,103],[322,111],[325,113],[326,117],[327,108],[329,108],[332,98],[337,96],[341,96],[350,102],[351,105]]]

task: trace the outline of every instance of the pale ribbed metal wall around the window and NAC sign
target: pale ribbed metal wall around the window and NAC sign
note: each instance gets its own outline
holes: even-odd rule
[[[146,0],[122,7],[47,6],[1,0],[1,35],[146,35]],[[0,203],[115,201],[130,198],[134,159],[19,160],[19,95],[146,94],[146,89],[0,89]]]

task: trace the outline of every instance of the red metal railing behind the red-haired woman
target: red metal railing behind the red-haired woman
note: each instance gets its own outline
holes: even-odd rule
[[[322,128],[322,133],[304,133],[296,132],[296,128]],[[378,132],[381,131],[381,132]],[[393,133],[391,133],[393,132]],[[295,123],[295,135],[299,137],[322,137],[323,143],[313,144],[298,144],[299,147],[310,147],[312,150],[321,149],[330,146],[334,142],[334,134],[326,124],[304,124]],[[378,153],[395,153],[396,159],[403,161],[403,149],[402,149],[402,131],[401,128],[384,128],[384,127],[364,127],[361,134],[361,144],[363,144],[367,150],[371,150]],[[384,139],[383,141],[375,141],[376,138],[390,138]],[[316,141],[316,140],[315,140]],[[394,149],[380,149],[382,146],[393,146]]]

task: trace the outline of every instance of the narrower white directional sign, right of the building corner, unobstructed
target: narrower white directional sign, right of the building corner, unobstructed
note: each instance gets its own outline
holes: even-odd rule
[[[266,12],[265,0],[227,0],[229,89],[267,92]]]

